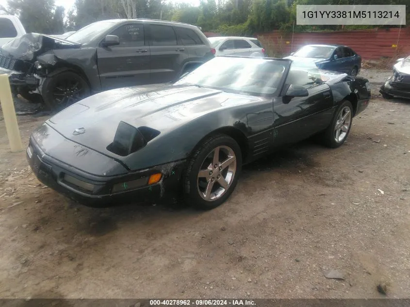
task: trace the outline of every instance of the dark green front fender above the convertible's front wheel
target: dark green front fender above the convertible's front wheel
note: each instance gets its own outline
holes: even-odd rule
[[[187,159],[210,133],[234,129],[247,139],[273,125],[272,102],[217,110],[168,129],[148,145],[123,159],[131,170]],[[155,127],[152,127],[155,128]]]

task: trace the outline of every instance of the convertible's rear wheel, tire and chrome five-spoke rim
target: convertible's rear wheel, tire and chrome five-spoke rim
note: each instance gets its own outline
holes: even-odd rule
[[[337,109],[332,122],[323,134],[324,143],[330,148],[341,146],[352,128],[353,106],[345,100]]]

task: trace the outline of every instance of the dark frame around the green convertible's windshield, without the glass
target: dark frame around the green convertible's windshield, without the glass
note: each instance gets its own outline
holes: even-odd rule
[[[236,90],[236,89],[230,89],[230,88],[223,88],[223,87],[218,87],[218,86],[211,86],[211,85],[202,85],[202,84],[195,84],[195,83],[178,83],[182,80],[182,78],[185,78],[191,73],[188,73],[187,75],[183,76],[179,80],[173,82],[174,85],[193,85],[193,86],[198,86],[198,87],[203,87],[203,88],[210,88],[213,90],[219,90],[225,93],[231,93],[231,94],[239,94],[239,95],[248,95],[248,96],[256,96],[256,97],[280,97],[280,93],[283,90],[283,86],[285,85],[286,78],[288,76],[289,69],[292,65],[292,60],[290,59],[282,59],[282,58],[255,58],[255,57],[249,57],[249,56],[238,56],[238,55],[223,55],[223,56],[218,56],[218,58],[244,58],[244,59],[250,59],[250,60],[263,60],[263,61],[280,61],[280,62],[287,62],[288,64],[285,66],[285,70],[282,73],[282,76],[280,78],[280,81],[278,83],[278,87],[273,93],[259,93],[259,92],[251,92],[251,91],[243,91],[243,90]],[[212,60],[211,60],[212,61]]]

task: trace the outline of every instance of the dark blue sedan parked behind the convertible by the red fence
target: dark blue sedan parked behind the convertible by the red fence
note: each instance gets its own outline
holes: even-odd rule
[[[305,58],[320,69],[333,70],[356,76],[361,67],[361,56],[342,45],[306,45],[285,59],[300,61]]]

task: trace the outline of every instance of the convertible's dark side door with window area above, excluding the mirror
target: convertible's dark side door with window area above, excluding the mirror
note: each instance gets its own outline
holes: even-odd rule
[[[286,97],[291,84],[303,86],[309,96]],[[328,84],[321,80],[320,72],[291,66],[284,90],[273,102],[274,145],[295,143],[326,129],[331,121],[332,108],[332,93]]]

